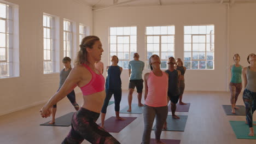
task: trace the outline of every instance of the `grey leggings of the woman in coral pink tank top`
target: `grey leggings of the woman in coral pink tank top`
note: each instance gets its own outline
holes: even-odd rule
[[[155,129],[155,139],[160,140],[162,133],[162,126],[164,125],[168,115],[168,107],[152,107],[145,105],[144,106],[144,132],[142,137],[142,144],[150,143],[150,135],[152,131],[152,126],[154,119],[156,119],[156,129]]]

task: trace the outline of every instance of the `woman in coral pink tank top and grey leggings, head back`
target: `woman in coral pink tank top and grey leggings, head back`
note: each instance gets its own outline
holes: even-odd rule
[[[144,75],[145,105],[144,105],[144,133],[143,144],[150,143],[150,134],[156,117],[155,143],[164,143],[160,140],[162,126],[167,118],[167,91],[168,74],[160,69],[160,58],[153,55],[149,58],[150,73]]]

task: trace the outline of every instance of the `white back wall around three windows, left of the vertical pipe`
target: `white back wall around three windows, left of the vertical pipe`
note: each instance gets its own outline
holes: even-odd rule
[[[146,61],[145,27],[175,25],[175,57],[183,58],[183,26],[215,25],[215,69],[187,70],[185,90],[226,91],[227,27],[226,5],[196,4],[150,7],[120,7],[94,12],[94,34],[101,38],[103,62],[108,62],[108,29],[115,26],[137,26],[137,52]],[[107,63],[104,63],[108,65]],[[149,70],[144,70],[144,73]],[[143,74],[144,74],[143,73]],[[128,88],[128,70],[121,75],[123,89]]]

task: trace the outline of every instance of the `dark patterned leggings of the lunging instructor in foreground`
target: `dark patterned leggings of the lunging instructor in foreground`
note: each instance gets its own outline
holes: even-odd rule
[[[119,144],[112,135],[97,125],[100,113],[81,107],[72,117],[71,130],[62,144],[77,144],[85,140],[90,143]]]

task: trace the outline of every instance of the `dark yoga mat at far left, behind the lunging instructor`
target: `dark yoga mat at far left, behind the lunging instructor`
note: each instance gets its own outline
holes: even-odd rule
[[[74,112],[67,113],[66,115],[63,115],[61,117],[55,118],[54,124],[48,124],[49,122],[40,124],[40,125],[46,125],[46,126],[59,126],[59,127],[69,127],[71,125],[71,120]]]

